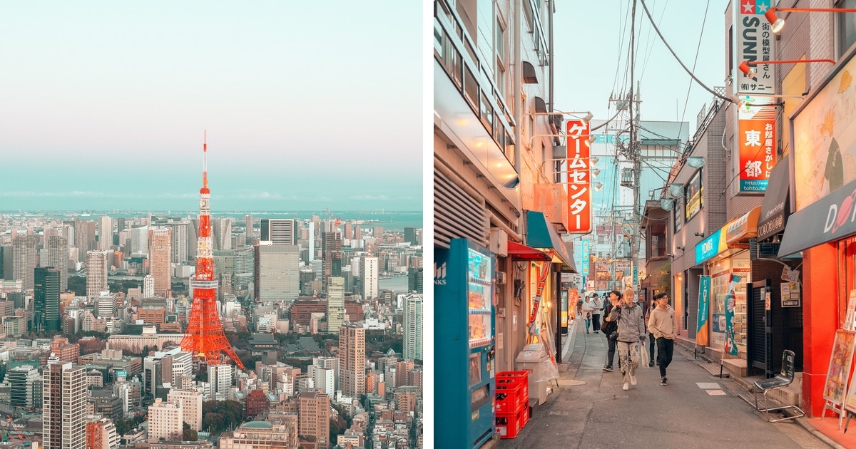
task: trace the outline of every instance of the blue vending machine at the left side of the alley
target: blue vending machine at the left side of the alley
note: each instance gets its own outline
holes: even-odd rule
[[[467,239],[434,253],[435,446],[479,447],[496,432],[494,258]]]

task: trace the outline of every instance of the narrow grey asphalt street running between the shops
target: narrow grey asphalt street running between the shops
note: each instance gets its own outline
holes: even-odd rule
[[[678,345],[669,385],[659,384],[657,366],[640,367],[638,385],[623,391],[617,354],[615,371],[603,371],[606,338],[586,334],[576,324],[565,338],[559,387],[551,382],[553,393],[544,405],[500,448],[845,447],[812,434],[805,418],[767,422],[737,397],[746,391],[740,383],[710,375],[699,366],[703,360],[693,360],[693,353]],[[837,418],[826,418],[824,424],[833,421]]]

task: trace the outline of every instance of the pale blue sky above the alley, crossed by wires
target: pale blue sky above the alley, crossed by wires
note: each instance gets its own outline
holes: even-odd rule
[[[728,2],[645,0],[645,4],[677,56],[688,68],[695,67],[698,79],[710,88],[725,86]],[[609,94],[626,93],[629,88],[632,5],[631,0],[556,2],[556,109],[591,110],[601,120],[615,114],[614,104],[608,109]],[[728,14],[733,14],[731,9]],[[675,61],[651,27],[641,2],[636,6],[636,46],[633,78],[641,81],[642,120],[688,121],[692,136],[696,115],[703,105],[710,105],[713,94],[693,82]]]

